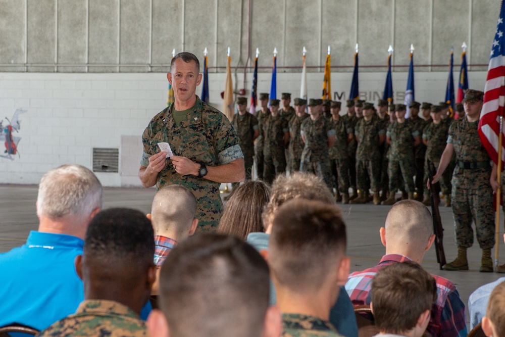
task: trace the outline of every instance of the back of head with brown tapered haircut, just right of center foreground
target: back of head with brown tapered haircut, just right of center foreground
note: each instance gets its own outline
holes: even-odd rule
[[[318,289],[345,254],[345,224],[336,205],[296,199],[275,214],[268,249],[272,274],[300,293]]]

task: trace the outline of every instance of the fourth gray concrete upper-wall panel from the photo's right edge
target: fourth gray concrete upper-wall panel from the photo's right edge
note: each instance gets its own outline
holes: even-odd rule
[[[360,66],[387,64],[387,49],[389,44],[393,44],[391,40],[394,20],[392,6],[392,0],[360,0],[358,2]],[[367,71],[374,70],[384,71],[383,68],[367,68]]]

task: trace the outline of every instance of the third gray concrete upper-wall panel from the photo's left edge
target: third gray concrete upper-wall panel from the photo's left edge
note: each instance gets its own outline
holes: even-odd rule
[[[87,62],[86,2],[58,0],[58,63],[85,64]],[[60,72],[83,72],[86,67],[59,67]]]

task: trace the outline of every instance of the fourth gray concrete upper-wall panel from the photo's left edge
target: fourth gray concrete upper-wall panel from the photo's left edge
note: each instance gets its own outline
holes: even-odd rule
[[[119,0],[89,0],[89,64],[118,64]],[[118,71],[118,67],[89,67],[90,72]]]

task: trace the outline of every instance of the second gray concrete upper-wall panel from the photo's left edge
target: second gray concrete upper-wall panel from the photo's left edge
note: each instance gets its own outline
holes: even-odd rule
[[[23,4],[18,2],[18,6]],[[23,4],[24,6],[24,4]],[[55,64],[56,2],[28,0],[28,63]],[[29,67],[30,71],[54,71],[54,67]]]

